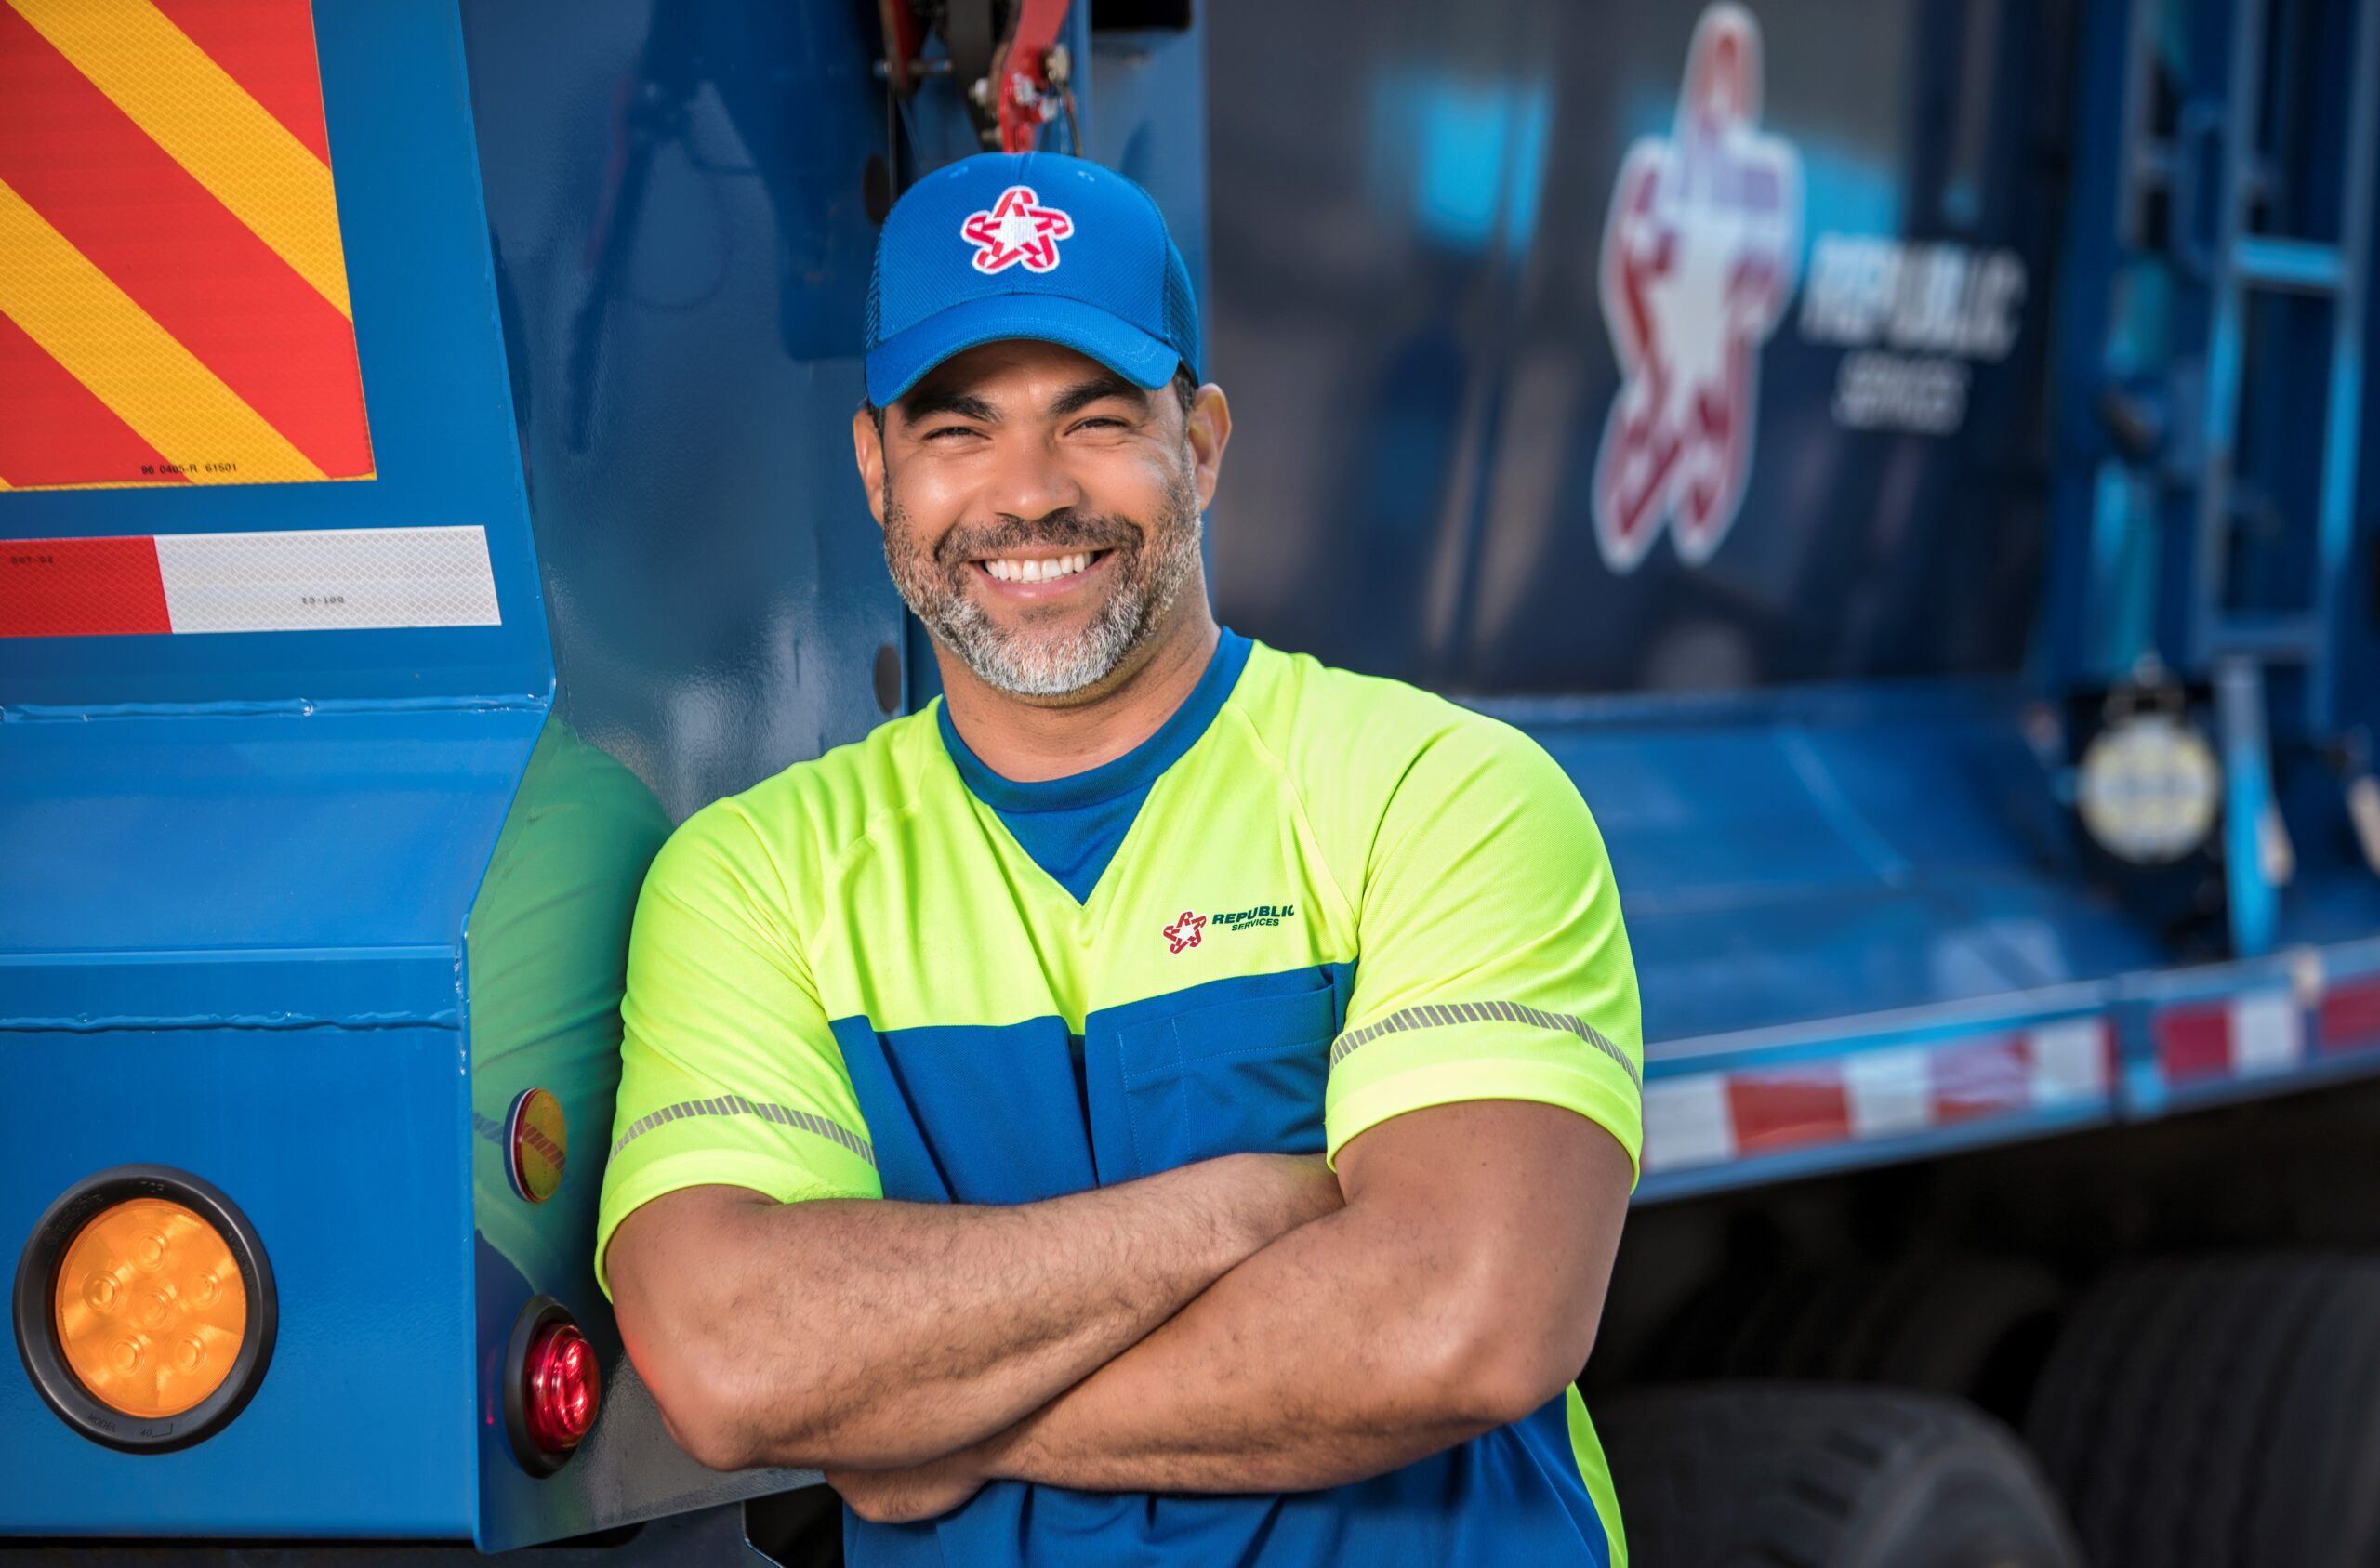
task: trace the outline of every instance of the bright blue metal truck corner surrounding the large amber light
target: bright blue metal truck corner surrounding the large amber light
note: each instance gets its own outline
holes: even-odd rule
[[[264,1240],[278,1342],[190,1449],[0,1378],[0,1530],[474,1525],[459,937],[552,690],[452,12],[324,7],[378,478],[12,495],[14,535],[478,523],[493,628],[0,645],[0,1235],[183,1166]]]

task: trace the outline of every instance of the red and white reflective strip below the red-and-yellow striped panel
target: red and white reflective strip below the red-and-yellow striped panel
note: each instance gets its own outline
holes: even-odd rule
[[[0,638],[497,623],[478,526],[0,540]]]

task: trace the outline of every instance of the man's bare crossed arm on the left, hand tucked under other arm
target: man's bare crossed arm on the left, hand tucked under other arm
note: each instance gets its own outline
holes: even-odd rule
[[[612,1275],[697,1456],[897,1466],[1042,1406],[1335,1202],[1321,1161],[1276,1156],[1019,1206],[740,1194],[650,1235],[631,1216]]]

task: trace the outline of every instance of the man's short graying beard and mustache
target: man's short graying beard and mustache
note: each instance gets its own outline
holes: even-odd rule
[[[1078,633],[1035,633],[1028,621],[1012,631],[969,597],[971,562],[1026,547],[1114,552],[1114,590],[1090,626]],[[1173,485],[1147,531],[1114,516],[1057,512],[1033,523],[1007,519],[990,528],[952,528],[928,554],[909,531],[909,514],[888,481],[885,569],[909,611],[978,680],[1012,697],[1069,697],[1116,673],[1197,576],[1197,493],[1188,481]]]

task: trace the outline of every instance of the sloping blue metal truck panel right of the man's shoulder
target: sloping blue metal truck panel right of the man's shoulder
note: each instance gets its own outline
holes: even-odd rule
[[[1654,1056],[2163,957],[2075,880],[2009,685],[1483,707],[1595,807]]]

